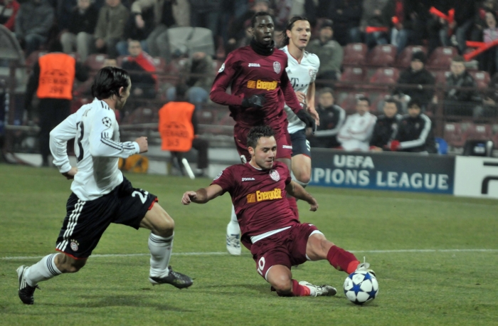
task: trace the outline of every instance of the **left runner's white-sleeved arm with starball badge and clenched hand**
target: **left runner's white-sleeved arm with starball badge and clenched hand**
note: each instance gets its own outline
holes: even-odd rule
[[[83,122],[82,122],[83,123]],[[92,157],[122,157],[147,152],[147,137],[139,137],[134,142],[115,142],[112,140],[115,113],[111,110],[99,110],[95,113],[90,126],[90,154]]]

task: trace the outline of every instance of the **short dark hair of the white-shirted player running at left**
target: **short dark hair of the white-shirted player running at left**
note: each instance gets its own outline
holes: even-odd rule
[[[98,100],[116,95],[121,98],[120,88],[129,87],[129,74],[126,70],[116,67],[104,67],[97,72],[92,84],[92,97]]]

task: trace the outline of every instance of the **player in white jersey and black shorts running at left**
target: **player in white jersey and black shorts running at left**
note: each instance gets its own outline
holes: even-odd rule
[[[149,281],[169,283],[176,288],[192,285],[189,276],[169,266],[174,221],[157,204],[157,196],[133,188],[117,169],[119,157],[147,152],[147,137],[120,142],[115,110],[121,110],[132,87],[125,70],[106,67],[95,75],[92,103],[70,115],[51,132],[53,164],[67,179],[74,179],[55,250],[38,263],[17,269],[21,301],[34,303],[38,282],[83,268],[92,250],[111,223],[148,228],[151,252]],[[75,139],[77,167],[71,167],[66,144]]]

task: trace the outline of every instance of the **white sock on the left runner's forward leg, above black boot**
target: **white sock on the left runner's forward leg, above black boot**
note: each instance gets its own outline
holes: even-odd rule
[[[161,277],[169,273],[168,265],[169,258],[171,258],[171,249],[173,248],[173,237],[174,233],[167,238],[150,233],[150,276]]]

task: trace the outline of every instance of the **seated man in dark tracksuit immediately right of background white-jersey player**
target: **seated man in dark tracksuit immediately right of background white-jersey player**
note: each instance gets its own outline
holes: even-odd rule
[[[322,88],[318,95],[317,112],[320,125],[313,135],[308,136],[311,147],[334,148],[341,144],[337,141],[337,134],[344,124],[346,112],[339,105],[334,104],[332,88]]]

